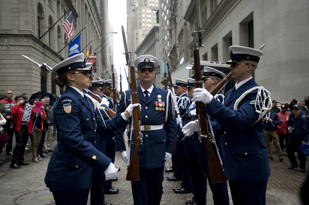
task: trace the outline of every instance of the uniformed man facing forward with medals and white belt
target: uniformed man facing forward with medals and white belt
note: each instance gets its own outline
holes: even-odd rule
[[[177,124],[175,115],[173,115],[171,101],[173,96],[170,90],[157,88],[153,84],[155,67],[158,64],[158,59],[152,55],[141,55],[134,60],[141,83],[137,87],[137,92],[139,103],[142,105],[141,130],[143,134],[143,144],[138,150],[139,180],[131,181],[134,205],[160,204],[163,194],[164,162],[171,158],[172,153],[175,153]],[[130,105],[130,94],[131,90],[122,93],[117,113]],[[128,156],[124,151],[122,139],[124,129],[125,127],[115,132],[115,150],[121,151],[123,160],[127,162]],[[131,147],[130,154],[132,154],[134,144],[131,143],[129,146]]]

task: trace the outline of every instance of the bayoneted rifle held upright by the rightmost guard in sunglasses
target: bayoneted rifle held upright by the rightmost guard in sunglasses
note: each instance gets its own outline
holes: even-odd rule
[[[196,1],[197,6],[197,29],[198,31],[193,31],[191,34],[193,36],[193,55],[194,55],[194,73],[195,73],[195,88],[203,88],[203,80],[201,77],[201,64],[200,64],[200,47],[202,45],[202,33],[200,27],[200,0]],[[196,42],[196,34],[198,36],[198,42]],[[208,169],[210,175],[210,181],[212,183],[225,182],[226,176],[224,174],[223,168],[218,161],[217,156],[212,149],[208,137],[208,126],[206,121],[206,115],[204,112],[205,105],[203,102],[196,102],[196,114],[199,122],[199,129],[197,131],[199,139],[203,142],[207,151]]]

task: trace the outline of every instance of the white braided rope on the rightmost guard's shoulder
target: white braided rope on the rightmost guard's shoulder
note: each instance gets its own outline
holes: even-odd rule
[[[247,94],[249,94],[250,92],[252,92],[252,91],[254,91],[254,90],[256,90],[256,89],[258,89],[258,92],[257,92],[257,95],[256,95],[256,99],[255,99],[255,100],[252,100],[252,101],[250,102],[250,104],[254,104],[254,105],[255,105],[255,109],[256,109],[256,110],[255,110],[256,113],[259,113],[259,114],[260,114],[259,118],[258,118],[257,121],[256,121],[256,122],[258,122],[258,121],[265,115],[265,113],[267,113],[267,110],[269,110],[270,107],[271,107],[271,99],[270,99],[271,93],[270,93],[268,90],[266,90],[263,86],[256,86],[256,87],[251,88],[251,89],[247,90],[246,92],[244,92],[244,93],[236,100],[235,105],[234,105],[234,110],[237,110],[237,107],[238,107],[239,102],[240,102]],[[264,100],[263,100],[263,98],[262,98],[262,94],[263,94]],[[268,100],[267,106],[265,106],[266,100]],[[258,108],[257,108],[256,105],[258,105]],[[256,123],[256,122],[255,122],[255,123]],[[253,123],[253,124],[255,124],[255,123]],[[253,125],[253,124],[252,124],[252,125]]]

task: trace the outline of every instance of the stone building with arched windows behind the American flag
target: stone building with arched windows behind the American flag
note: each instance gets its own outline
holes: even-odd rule
[[[82,52],[86,53],[89,47],[86,45],[91,41],[92,47],[100,44],[102,16],[99,9],[99,0],[0,0],[0,92],[9,89],[14,96],[38,91],[61,94],[63,90],[53,81],[54,74],[39,70],[21,55],[50,67],[66,59],[68,46],[61,25],[71,11],[73,36],[69,42],[81,32],[80,47],[81,50],[85,47]],[[108,28],[108,21],[105,22]],[[100,62],[98,55],[99,73],[102,72]]]

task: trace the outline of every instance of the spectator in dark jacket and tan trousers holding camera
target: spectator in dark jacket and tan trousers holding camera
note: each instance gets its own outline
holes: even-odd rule
[[[277,150],[277,154],[279,157],[279,161],[282,163],[286,163],[283,159],[279,137],[277,134],[277,128],[276,125],[281,125],[281,121],[277,113],[273,111],[272,108],[267,110],[267,113],[264,116],[264,124],[263,124],[263,130],[264,130],[264,140],[267,146],[267,152],[268,152],[268,159],[269,161],[273,160],[273,151],[271,150],[270,146],[270,138],[273,140],[273,144]]]

